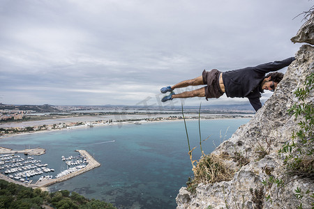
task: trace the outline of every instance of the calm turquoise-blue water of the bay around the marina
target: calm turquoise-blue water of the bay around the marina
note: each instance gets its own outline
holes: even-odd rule
[[[228,139],[248,118],[202,120],[202,143],[210,153]],[[193,159],[200,158],[198,121],[187,121]],[[114,142],[112,142],[114,141]],[[49,187],[68,189],[87,198],[113,203],[117,208],[175,208],[175,198],[189,176],[193,176],[183,121],[110,125],[59,132],[27,134],[1,139],[13,149],[42,147],[38,158],[61,171],[61,156],[78,155],[84,149],[101,167]],[[50,174],[51,175],[51,174]]]

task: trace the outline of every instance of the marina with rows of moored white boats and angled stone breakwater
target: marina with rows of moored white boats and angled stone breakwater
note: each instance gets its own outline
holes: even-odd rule
[[[53,176],[54,169],[49,168],[48,164],[36,160],[29,155],[43,155],[45,149],[34,148],[25,150],[11,150],[0,148],[0,179],[8,182],[24,185],[25,187],[44,188],[54,183],[59,183],[69,178],[73,178],[81,173],[100,167],[94,157],[89,155],[86,150],[75,150],[79,155],[73,157],[61,157],[62,164],[66,169]],[[24,153],[24,156],[17,155]],[[40,176],[34,180],[33,176]]]

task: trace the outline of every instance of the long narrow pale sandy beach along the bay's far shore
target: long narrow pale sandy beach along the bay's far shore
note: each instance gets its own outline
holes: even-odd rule
[[[146,116],[146,117],[144,117]],[[12,122],[12,123],[0,123],[0,127],[3,129],[11,129],[8,134],[0,135],[0,139],[3,137],[12,137],[21,134],[34,134],[38,132],[52,132],[67,129],[88,128],[94,126],[104,125],[124,125],[132,123],[152,123],[152,122],[165,122],[165,121],[183,121],[182,114],[170,115],[111,115],[111,116],[79,116],[69,118],[49,119],[42,121],[24,121],[24,122]],[[204,114],[200,117],[201,120],[215,120],[223,118],[252,118],[253,114]],[[186,120],[198,119],[197,114],[185,114]],[[112,120],[112,122],[108,122]],[[24,131],[25,127],[33,128],[33,131]]]

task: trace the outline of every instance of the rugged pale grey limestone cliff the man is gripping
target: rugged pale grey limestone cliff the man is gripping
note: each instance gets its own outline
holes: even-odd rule
[[[311,34],[299,31],[299,40],[313,44],[313,25]],[[308,27],[306,27],[308,29]],[[304,34],[307,33],[305,36]],[[302,35],[303,34],[303,35]],[[314,192],[314,181],[290,177],[285,179],[284,187],[263,185],[269,177],[281,178],[284,173],[283,159],[278,150],[286,141],[291,141],[292,132],[299,126],[295,116],[287,114],[297,98],[293,94],[297,88],[304,86],[308,75],[314,72],[314,47],[303,45],[295,55],[296,60],[288,67],[283,80],[278,84],[274,94],[264,106],[257,111],[254,118],[246,125],[239,127],[230,139],[224,141],[213,154],[234,156],[240,153],[249,161],[240,167],[237,162],[225,160],[225,163],[237,170],[234,178],[228,182],[200,184],[196,194],[188,192],[186,187],[179,190],[177,209],[181,208],[311,208],[311,200],[300,200],[294,190],[310,189]],[[313,104],[312,97],[307,102]],[[266,150],[267,155],[260,155]],[[271,199],[267,196],[272,194]],[[313,201],[313,200],[312,200]]]

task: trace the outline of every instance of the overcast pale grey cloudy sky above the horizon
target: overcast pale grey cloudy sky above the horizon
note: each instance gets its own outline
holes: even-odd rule
[[[0,0],[0,102],[248,103],[225,95],[161,103],[160,88],[204,69],[294,56],[301,44],[290,38],[304,23],[297,15],[311,6],[311,0]],[[270,96],[265,91],[262,102]]]

